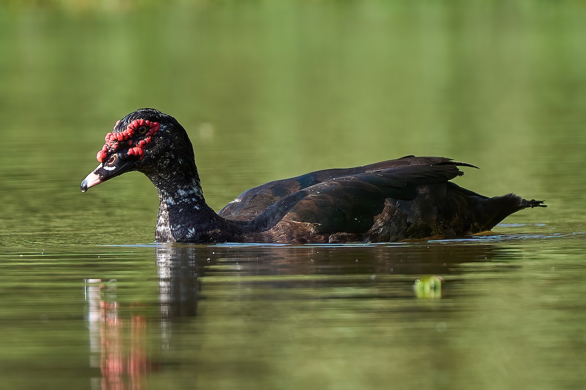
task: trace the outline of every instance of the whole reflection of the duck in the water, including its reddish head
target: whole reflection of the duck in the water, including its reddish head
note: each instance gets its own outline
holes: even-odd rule
[[[140,389],[144,376],[162,367],[155,364],[151,356],[164,355],[165,351],[172,350],[173,330],[176,325],[197,316],[198,302],[202,295],[200,278],[204,275],[210,278],[222,275],[238,277],[239,282],[229,282],[227,288],[230,289],[245,285],[246,288],[297,288],[300,291],[311,288],[308,291],[315,291],[315,288],[332,286],[381,287],[394,283],[401,284],[398,289],[401,291],[400,297],[408,298],[421,296],[413,287],[416,280],[425,280],[422,276],[449,275],[458,272],[459,264],[490,261],[500,256],[500,253],[490,244],[443,243],[355,247],[230,247],[193,244],[158,246],[158,302],[151,301],[151,305],[155,303],[158,308],[151,306],[150,310],[142,310],[143,313],[151,313],[150,315],[133,313],[132,305],[121,306],[117,299],[115,281],[87,281],[90,363],[92,367],[99,368],[101,373],[101,377],[95,379],[93,387]],[[510,258],[511,253],[506,256]],[[280,278],[280,275],[292,277]],[[296,278],[295,275],[299,277]],[[308,277],[311,275],[320,277]],[[399,277],[394,278],[391,275]],[[434,280],[441,279],[438,276]],[[377,298],[392,299],[394,296]],[[274,301],[279,299],[279,295],[265,296],[265,299]],[[153,345],[152,342],[149,344],[149,337],[151,341],[152,338],[159,340],[154,351],[147,348],[147,345]]]

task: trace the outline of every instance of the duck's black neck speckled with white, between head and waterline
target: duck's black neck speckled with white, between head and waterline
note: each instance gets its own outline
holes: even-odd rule
[[[155,185],[161,202],[155,231],[157,241],[215,241],[212,232],[222,231],[225,220],[203,198],[195,164],[179,164],[179,169],[172,172],[144,173]]]

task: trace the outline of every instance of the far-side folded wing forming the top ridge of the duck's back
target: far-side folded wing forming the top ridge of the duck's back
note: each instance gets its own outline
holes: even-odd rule
[[[387,172],[390,174],[390,170],[393,170],[393,168],[435,165],[441,167],[455,167],[456,165],[474,167],[474,165],[471,164],[456,163],[450,158],[446,157],[405,156],[397,158],[396,160],[388,160],[382,161],[380,163],[363,165],[362,167],[315,171],[285,180],[271,181],[258,187],[248,189],[247,191],[243,192],[243,194],[238,196],[238,198],[234,199],[234,201],[228,203],[228,205],[220,210],[218,214],[226,219],[253,220],[275,203],[284,200],[297,191],[301,191],[317,184],[332,182],[330,187],[328,187],[329,190],[332,190],[333,188],[336,188],[336,186],[339,188],[348,187],[347,181],[352,180],[351,178],[355,178],[353,179],[353,185],[359,185],[357,182],[361,180],[364,181],[364,184],[367,184],[369,181],[377,183],[380,181],[380,175],[377,175],[376,177],[360,175],[370,172]],[[414,171],[403,171],[403,175],[414,175],[413,177],[415,178],[416,171],[423,173],[426,170],[415,169]],[[398,171],[394,175],[394,180],[398,180],[397,175],[400,175]],[[343,180],[339,181],[341,179]],[[347,191],[355,192],[356,190],[348,188]],[[321,194],[323,193],[321,192]]]

